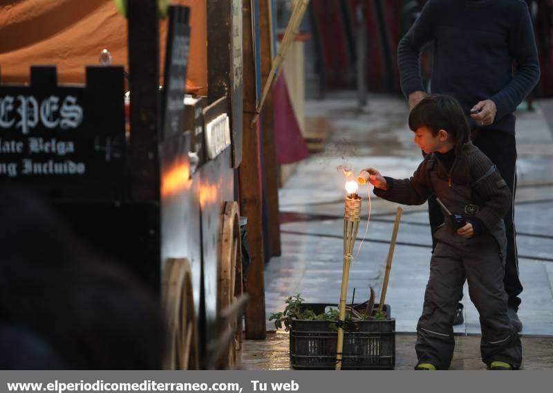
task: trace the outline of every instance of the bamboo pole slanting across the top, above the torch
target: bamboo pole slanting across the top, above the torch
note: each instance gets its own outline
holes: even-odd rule
[[[259,113],[261,112],[263,103],[265,102],[265,99],[267,98],[267,95],[271,89],[273,80],[279,75],[279,71],[281,70],[281,64],[284,60],[284,56],[288,51],[290,44],[294,42],[294,38],[296,37],[296,33],[299,28],[299,24],[301,23],[301,19],[303,19],[303,15],[306,13],[308,4],[309,4],[309,0],[296,1],[294,10],[292,11],[292,16],[290,17],[290,21],[288,22],[288,26],[286,27],[284,37],[279,46],[279,52],[277,53],[277,57],[274,58],[271,72],[267,77],[267,82],[265,82],[265,86],[263,86],[263,94],[261,95],[261,100],[257,104],[256,113],[254,115],[254,118],[252,119],[252,123],[251,123],[252,127],[257,121],[257,118],[259,118]]]

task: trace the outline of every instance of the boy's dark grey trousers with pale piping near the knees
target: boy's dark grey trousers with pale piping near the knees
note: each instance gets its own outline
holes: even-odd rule
[[[469,295],[480,314],[482,361],[494,360],[518,368],[522,361],[521,340],[507,316],[503,289],[505,259],[491,234],[463,239],[450,226],[435,233],[438,244],[432,255],[424,307],[417,325],[418,363],[448,369],[453,357],[453,316],[462,295],[465,277]]]

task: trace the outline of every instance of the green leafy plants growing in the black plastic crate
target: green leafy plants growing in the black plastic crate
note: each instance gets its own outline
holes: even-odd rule
[[[292,320],[327,320],[329,322],[338,322],[339,310],[330,307],[325,313],[317,314],[312,310],[303,310],[301,304],[303,299],[301,293],[294,296],[289,296],[286,300],[286,307],[284,311],[273,313],[269,320],[274,320],[274,327],[282,329],[284,324],[285,331],[289,331],[292,326]],[[386,320],[386,312],[378,311],[374,309],[375,304],[375,292],[371,288],[371,298],[368,300],[366,307],[359,309],[359,306],[346,308],[346,321],[357,322],[361,320]],[[335,323],[331,323],[332,329],[337,329]]]

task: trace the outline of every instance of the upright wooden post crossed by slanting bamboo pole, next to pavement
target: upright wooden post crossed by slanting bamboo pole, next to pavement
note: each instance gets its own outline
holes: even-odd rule
[[[265,86],[272,67],[272,23],[271,0],[259,0],[259,32],[261,41],[261,84]],[[265,208],[265,226],[268,237],[265,247],[268,256],[281,255],[281,227],[279,223],[279,166],[277,164],[277,145],[274,136],[274,112],[272,95],[268,94],[261,109],[261,133],[263,135],[263,207]]]

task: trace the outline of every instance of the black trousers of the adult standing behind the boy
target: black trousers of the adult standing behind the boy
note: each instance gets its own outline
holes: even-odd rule
[[[478,147],[493,162],[499,173],[507,183],[509,190],[513,194],[516,191],[516,142],[514,135],[504,132],[498,132],[491,129],[476,129],[476,138],[474,145]],[[444,216],[440,205],[431,197],[428,201],[429,218],[432,233],[444,222]],[[505,291],[509,298],[507,300],[509,307],[518,311],[521,299],[518,295],[523,291],[521,280],[518,277],[518,255],[516,250],[515,228],[514,228],[514,203],[505,215],[505,230],[507,235],[507,262],[505,264],[505,278],[503,283]],[[435,238],[432,237],[433,246]],[[462,293],[461,293],[462,298]]]

